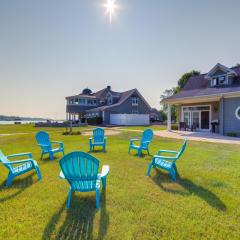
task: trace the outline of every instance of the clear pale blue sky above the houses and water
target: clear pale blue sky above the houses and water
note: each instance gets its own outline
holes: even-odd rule
[[[238,0],[0,1],[0,114],[65,117],[85,87],[159,96],[186,71],[240,62]]]

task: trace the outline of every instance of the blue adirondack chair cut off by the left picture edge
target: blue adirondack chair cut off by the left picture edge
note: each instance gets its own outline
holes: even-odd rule
[[[9,158],[16,158],[16,157],[23,157],[23,156],[25,157],[27,156],[27,158],[23,160],[17,160],[17,161],[9,160]],[[15,177],[22,175],[26,172],[29,172],[31,170],[36,171],[39,180],[42,179],[42,175],[38,167],[38,164],[32,158],[31,153],[19,153],[19,154],[5,156],[0,150],[0,162],[2,162],[3,165],[9,170],[8,178],[5,183],[7,187],[11,186]]]

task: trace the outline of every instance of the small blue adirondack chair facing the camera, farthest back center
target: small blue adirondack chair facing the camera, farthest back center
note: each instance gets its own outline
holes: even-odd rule
[[[107,138],[104,136],[103,128],[93,129],[93,137],[89,138],[90,152],[94,151],[95,146],[102,146],[103,151],[106,151]]]

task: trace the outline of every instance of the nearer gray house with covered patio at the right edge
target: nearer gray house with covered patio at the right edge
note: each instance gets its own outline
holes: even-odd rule
[[[199,131],[216,127],[222,135],[240,133],[240,66],[228,68],[218,63],[208,73],[190,78],[182,91],[165,102],[169,130],[170,108],[177,105],[179,122],[189,127],[195,125]]]

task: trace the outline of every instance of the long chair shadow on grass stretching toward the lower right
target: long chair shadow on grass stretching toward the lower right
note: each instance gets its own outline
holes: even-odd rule
[[[165,192],[173,193],[173,194],[179,194],[182,196],[190,196],[195,195],[204,200],[206,203],[208,203],[211,207],[216,208],[219,211],[226,211],[226,205],[222,200],[213,192],[210,190],[204,188],[203,186],[200,186],[198,184],[195,184],[189,179],[186,178],[180,178],[180,176],[177,176],[178,181],[176,184],[183,187],[186,191],[181,191],[178,189],[173,189],[170,187],[166,187],[167,183],[172,183],[169,177],[169,174],[165,172],[161,172],[158,169],[155,169],[156,174],[154,177],[152,177],[152,180]],[[165,184],[164,184],[165,183]]]

